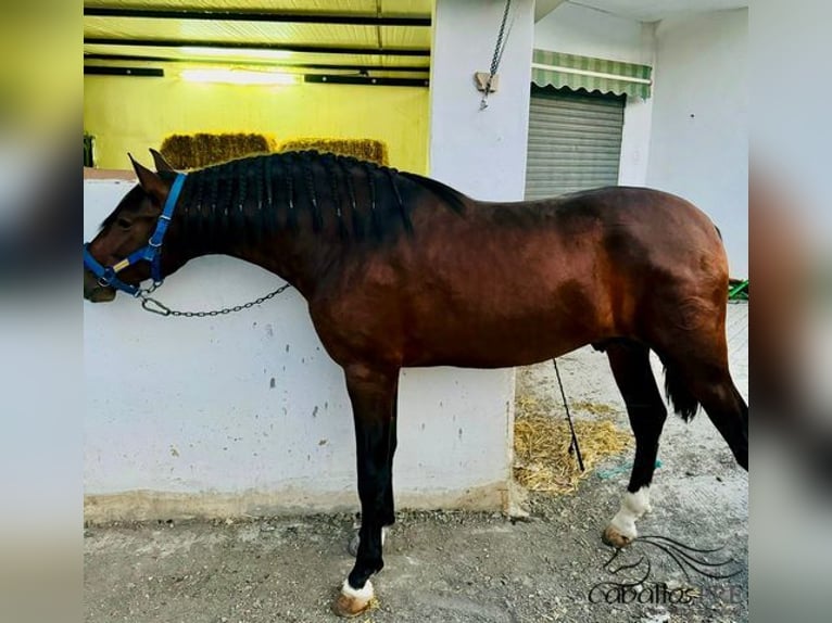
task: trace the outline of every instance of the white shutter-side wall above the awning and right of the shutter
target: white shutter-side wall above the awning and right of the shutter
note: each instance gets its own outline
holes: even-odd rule
[[[534,25],[534,47],[568,54],[654,65],[654,26],[564,3]],[[644,186],[653,99],[628,98],[618,183]]]

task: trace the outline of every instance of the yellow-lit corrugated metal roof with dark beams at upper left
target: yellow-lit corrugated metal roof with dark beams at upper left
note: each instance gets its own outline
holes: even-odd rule
[[[85,66],[427,78],[431,0],[85,0]]]

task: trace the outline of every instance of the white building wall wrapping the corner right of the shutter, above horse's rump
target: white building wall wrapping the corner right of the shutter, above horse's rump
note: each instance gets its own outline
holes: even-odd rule
[[[735,277],[748,275],[747,23],[747,9],[643,24],[565,3],[534,27],[535,48],[653,66],[653,97],[625,107],[618,182],[708,213]]]

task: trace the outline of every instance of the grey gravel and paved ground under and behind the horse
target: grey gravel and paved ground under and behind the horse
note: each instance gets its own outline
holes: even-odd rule
[[[732,372],[747,398],[747,304],[729,307],[728,333]],[[584,348],[559,361],[570,404],[588,406],[576,417],[606,405],[627,427],[603,354]],[[517,393],[551,403],[553,417],[563,417],[551,363],[518,370]],[[658,536],[605,564],[614,551],[600,535],[618,509],[631,460],[632,449],[610,457],[572,494],[533,494],[524,521],[400,512],[386,568],[373,578],[377,607],[357,621],[747,621],[748,479],[707,417],[668,419],[654,510],[639,523],[642,535]],[[352,534],[346,514],[90,526],[85,620],[336,621],[329,606],[351,569]],[[689,563],[731,576],[710,578]]]

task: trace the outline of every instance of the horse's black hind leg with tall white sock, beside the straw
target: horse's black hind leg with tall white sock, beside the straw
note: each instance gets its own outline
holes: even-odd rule
[[[607,347],[609,366],[627,405],[635,435],[635,458],[621,507],[603,533],[603,541],[625,547],[638,536],[635,522],[651,510],[650,485],[656,467],[658,440],[667,407],[650,366],[650,349],[636,342],[616,342]]]

